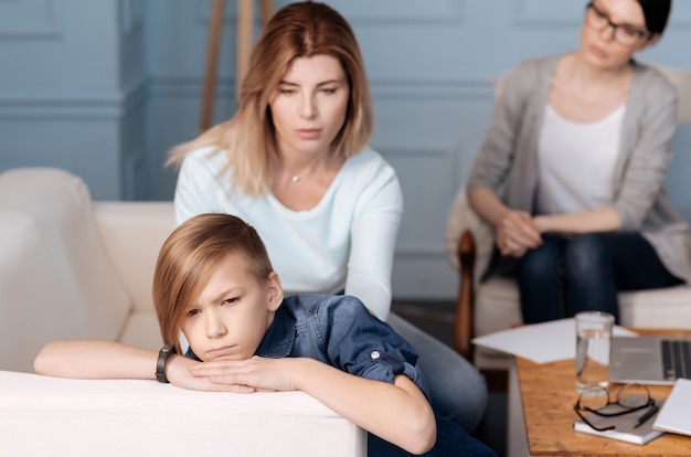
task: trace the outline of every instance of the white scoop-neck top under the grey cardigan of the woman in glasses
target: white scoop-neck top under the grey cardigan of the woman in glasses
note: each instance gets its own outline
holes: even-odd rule
[[[610,206],[625,106],[596,123],[578,124],[546,106],[538,140],[540,214]]]

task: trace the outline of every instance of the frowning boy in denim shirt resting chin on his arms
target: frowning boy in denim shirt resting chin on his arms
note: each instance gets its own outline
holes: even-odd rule
[[[435,419],[414,349],[362,302],[284,299],[262,240],[235,216],[201,214],[170,235],[153,301],[166,342],[158,354],[111,341],[53,342],[35,371],[158,379],[202,391],[301,390],[370,432],[370,455],[491,455],[460,427]],[[185,357],[178,355],[180,331],[190,344]]]

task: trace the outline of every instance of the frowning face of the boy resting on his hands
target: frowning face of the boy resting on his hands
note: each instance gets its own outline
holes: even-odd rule
[[[275,273],[259,281],[238,253],[226,255],[196,301],[188,306],[182,331],[202,361],[254,355],[283,300]]]

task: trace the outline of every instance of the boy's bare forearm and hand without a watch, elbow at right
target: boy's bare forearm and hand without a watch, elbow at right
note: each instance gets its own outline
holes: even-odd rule
[[[215,361],[191,372],[219,385],[256,390],[299,390],[365,431],[412,454],[422,454],[436,440],[436,422],[422,391],[405,375],[394,383],[349,374],[307,358]]]

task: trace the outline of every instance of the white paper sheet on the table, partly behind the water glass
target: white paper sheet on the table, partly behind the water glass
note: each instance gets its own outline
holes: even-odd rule
[[[637,333],[615,326],[614,336]],[[520,355],[535,363],[573,359],[576,353],[576,323],[573,318],[517,327],[475,338],[477,346]]]

